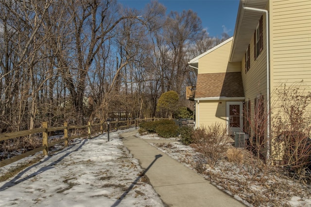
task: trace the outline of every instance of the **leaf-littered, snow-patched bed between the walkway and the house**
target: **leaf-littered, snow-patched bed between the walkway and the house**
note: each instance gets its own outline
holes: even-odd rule
[[[144,135],[139,138],[160,139],[156,135]],[[311,207],[311,186],[301,185],[294,179],[284,176],[279,168],[267,169],[266,174],[258,173],[254,177],[253,160],[247,151],[245,163],[238,165],[222,157],[211,169],[202,164],[199,153],[190,145],[182,144],[178,138],[170,143],[150,143],[158,150],[170,155],[185,166],[201,173],[220,190],[224,190],[249,207],[286,206]],[[229,146],[228,146],[229,147]],[[251,162],[249,162],[251,161]],[[198,167],[200,165],[200,167]]]

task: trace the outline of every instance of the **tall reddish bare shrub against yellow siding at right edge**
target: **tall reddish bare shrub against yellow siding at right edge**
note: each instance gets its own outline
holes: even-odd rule
[[[276,90],[276,97],[272,155],[301,179],[311,167],[311,92],[284,84]]]

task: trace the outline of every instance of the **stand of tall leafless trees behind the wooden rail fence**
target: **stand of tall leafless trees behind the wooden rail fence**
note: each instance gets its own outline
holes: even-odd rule
[[[188,51],[202,29],[192,11],[166,17],[157,1],[137,11],[115,0],[1,0],[0,8],[1,131],[83,124],[115,110],[155,116],[160,94],[181,96],[194,82]]]

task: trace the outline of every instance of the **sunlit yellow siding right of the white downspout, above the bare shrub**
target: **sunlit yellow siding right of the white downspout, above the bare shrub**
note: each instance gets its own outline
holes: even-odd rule
[[[302,82],[311,91],[311,1],[271,0],[270,5],[272,90]]]

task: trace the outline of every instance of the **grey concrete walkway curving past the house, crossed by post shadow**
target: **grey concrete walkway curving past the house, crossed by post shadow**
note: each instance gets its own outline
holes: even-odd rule
[[[156,139],[135,137],[137,130],[122,133],[124,146],[139,160],[155,191],[169,207],[242,207],[203,176],[151,146]],[[165,140],[172,141],[172,140]]]

